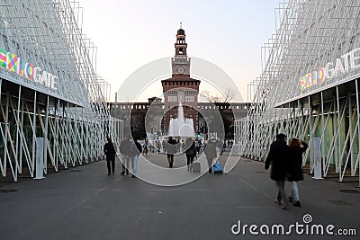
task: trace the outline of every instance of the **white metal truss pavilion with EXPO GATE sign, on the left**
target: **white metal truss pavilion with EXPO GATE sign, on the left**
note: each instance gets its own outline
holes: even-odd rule
[[[34,177],[37,147],[48,173],[103,158],[106,137],[120,142],[81,26],[76,2],[0,0],[1,176]]]

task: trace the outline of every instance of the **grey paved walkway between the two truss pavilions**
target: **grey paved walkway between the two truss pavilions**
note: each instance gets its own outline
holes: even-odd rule
[[[149,153],[148,158],[167,166],[165,155]],[[177,156],[175,167],[184,166],[184,161]],[[17,191],[0,193],[0,239],[279,239],[253,236],[248,227],[245,236],[236,236],[231,227],[240,220],[241,226],[257,224],[257,232],[262,225],[271,229],[284,224],[287,229],[303,224],[305,214],[311,215],[311,224],[334,225],[333,231],[356,228],[357,236],[332,239],[360,235],[360,194],[339,191],[358,190],[356,182],[319,181],[307,175],[300,183],[302,208],[283,210],[274,202],[275,184],[263,163],[241,159],[230,173],[206,173],[177,187],[121,176],[120,169],[117,163],[117,173],[108,176],[101,161],[51,173],[44,180],[3,186],[0,190]],[[330,236],[298,235],[293,229],[291,238]]]

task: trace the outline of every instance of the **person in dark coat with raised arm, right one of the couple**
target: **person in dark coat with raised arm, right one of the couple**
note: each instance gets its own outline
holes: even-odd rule
[[[293,202],[293,206],[301,207],[299,198],[298,181],[302,181],[302,154],[308,148],[308,145],[300,139],[292,138],[289,142],[290,147],[290,164],[287,180],[292,182],[292,195],[289,200]]]

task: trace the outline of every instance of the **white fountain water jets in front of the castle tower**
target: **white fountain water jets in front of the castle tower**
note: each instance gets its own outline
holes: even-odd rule
[[[195,136],[195,131],[193,130],[193,119],[184,118],[184,109],[181,102],[179,102],[177,109],[177,118],[172,118],[170,120],[168,136],[182,139],[193,138]]]

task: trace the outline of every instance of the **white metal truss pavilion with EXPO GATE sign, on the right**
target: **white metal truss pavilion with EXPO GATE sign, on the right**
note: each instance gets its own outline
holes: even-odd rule
[[[236,121],[238,154],[264,161],[276,133],[283,132],[309,142],[303,165],[313,173],[313,138],[320,138],[322,176],[354,177],[360,157],[360,2],[289,0],[276,10],[280,25],[262,48],[262,74],[248,86],[253,103],[247,118]]]

